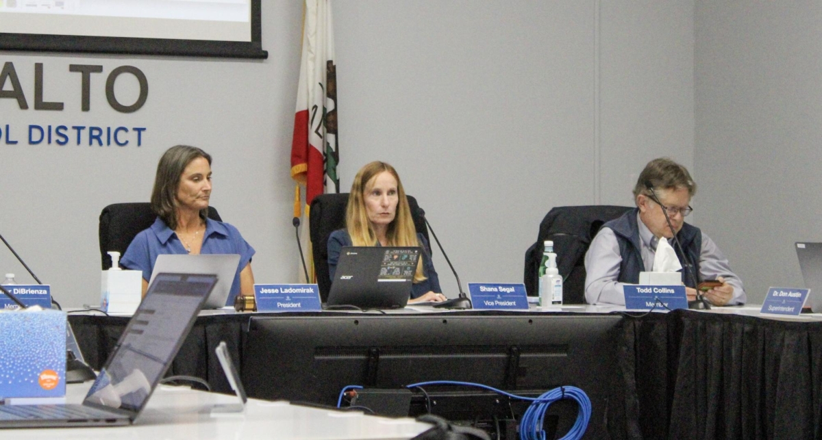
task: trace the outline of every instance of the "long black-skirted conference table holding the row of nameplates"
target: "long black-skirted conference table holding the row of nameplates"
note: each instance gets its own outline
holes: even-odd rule
[[[528,311],[435,311],[411,307],[381,314],[546,317],[621,317],[614,365],[617,393],[609,398],[611,438],[822,438],[822,314],[776,317],[758,306],[626,312],[617,306],[567,305]],[[354,312],[309,314],[205,310],[173,363],[173,374],[204,378],[229,392],[214,348],[226,341],[240,369],[252,317],[374,316]],[[70,314],[86,361],[99,369],[127,316]],[[493,332],[489,328],[488,332]],[[569,329],[572,331],[572,329]],[[246,363],[246,364],[243,364]],[[255,391],[248,390],[254,396]]]

